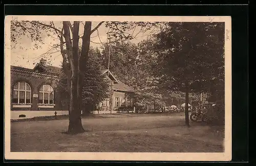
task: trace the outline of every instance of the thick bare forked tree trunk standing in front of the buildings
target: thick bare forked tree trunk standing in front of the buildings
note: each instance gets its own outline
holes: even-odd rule
[[[81,54],[79,54],[78,51],[80,21],[74,21],[73,26],[70,21],[62,21],[62,24],[63,28],[61,30],[61,35],[59,36],[60,50],[63,57],[63,70],[67,76],[68,92],[70,95],[68,133],[75,134],[84,132],[81,123],[81,91],[84,72],[86,72],[84,69],[86,67],[90,47],[91,22],[86,21],[86,24],[84,25]],[[73,37],[73,44],[70,30]],[[63,41],[63,37],[65,38],[65,42]],[[63,49],[64,43],[66,43],[66,50]]]

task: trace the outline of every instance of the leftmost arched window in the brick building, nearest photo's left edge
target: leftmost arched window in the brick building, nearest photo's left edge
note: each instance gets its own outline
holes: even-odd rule
[[[31,103],[31,88],[27,82],[17,82],[13,88],[13,103]]]

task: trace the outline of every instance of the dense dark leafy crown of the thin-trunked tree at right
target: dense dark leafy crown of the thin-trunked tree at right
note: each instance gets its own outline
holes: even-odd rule
[[[168,22],[141,45],[166,88],[184,92],[188,81],[192,92],[209,92],[212,80],[224,80],[223,22]]]

